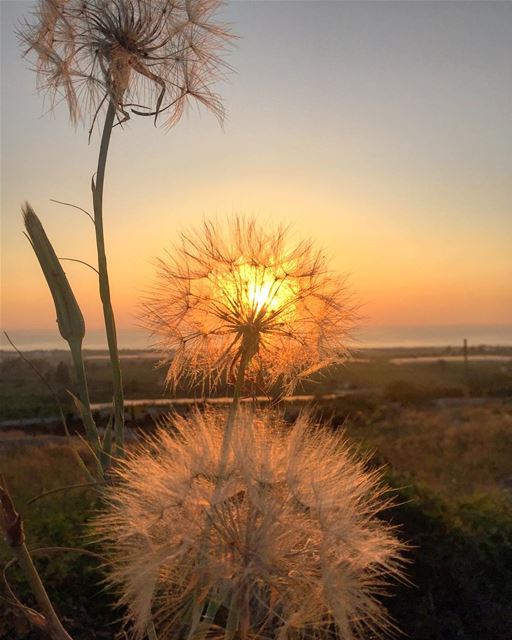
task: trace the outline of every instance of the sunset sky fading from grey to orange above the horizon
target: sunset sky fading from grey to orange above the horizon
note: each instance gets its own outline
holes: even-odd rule
[[[34,206],[60,256],[94,262],[86,209],[99,135],[44,115],[2,2],[2,328],[55,326],[22,235]],[[512,3],[230,2],[240,37],[219,84],[224,130],[191,109],[171,131],[114,130],[106,241],[118,324],[136,324],[155,256],[230,213],[292,223],[325,247],[369,325],[512,325]],[[88,327],[95,274],[67,263]]]

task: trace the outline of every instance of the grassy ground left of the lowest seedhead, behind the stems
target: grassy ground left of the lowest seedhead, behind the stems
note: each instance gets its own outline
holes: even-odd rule
[[[67,445],[6,446],[4,443],[0,469],[23,517],[30,549],[84,547],[85,523],[96,508],[96,494],[92,490],[59,492],[28,504],[44,491],[85,481]],[[10,558],[3,544],[0,558],[2,565]],[[97,563],[74,552],[35,554],[34,559],[55,607],[65,624],[78,632],[77,637],[112,638],[113,630],[106,629],[111,614],[108,601],[101,593],[102,575]],[[9,571],[8,579],[23,602],[33,606],[32,595],[15,567]],[[91,606],[91,603],[94,604]],[[16,607],[0,601],[0,638],[39,637],[46,636],[31,629]]]

